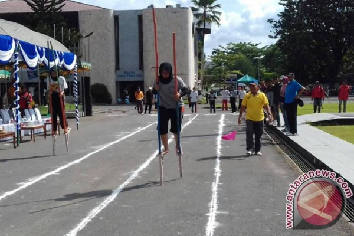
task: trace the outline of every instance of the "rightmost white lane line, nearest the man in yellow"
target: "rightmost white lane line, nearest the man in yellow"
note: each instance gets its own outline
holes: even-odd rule
[[[217,137],[217,146],[216,146],[216,166],[215,166],[215,180],[212,184],[212,197],[210,201],[210,211],[209,211],[209,221],[206,225],[206,236],[212,236],[214,234],[214,229],[216,228],[216,214],[218,208],[218,185],[219,185],[219,178],[221,175],[220,169],[220,156],[221,156],[221,137],[223,132],[224,125],[224,118],[225,114],[222,114],[220,118],[219,124],[219,135]]]

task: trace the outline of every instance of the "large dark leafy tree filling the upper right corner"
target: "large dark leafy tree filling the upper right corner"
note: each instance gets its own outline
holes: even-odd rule
[[[335,82],[354,43],[354,1],[280,0],[280,5],[279,20],[268,22],[287,69],[308,82],[324,77]]]

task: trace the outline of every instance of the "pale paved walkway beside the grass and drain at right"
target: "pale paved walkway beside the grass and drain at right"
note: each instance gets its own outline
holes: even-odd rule
[[[281,117],[281,124],[284,121]],[[315,113],[297,117],[298,136],[289,137],[354,185],[354,145],[307,122],[353,118],[354,113]],[[278,127],[279,130],[282,128]],[[279,132],[282,133],[282,132]],[[285,134],[281,134],[285,137]]]

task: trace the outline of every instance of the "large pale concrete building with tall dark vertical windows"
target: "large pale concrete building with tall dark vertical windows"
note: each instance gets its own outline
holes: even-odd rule
[[[110,10],[67,0],[62,12],[69,27],[84,36],[79,51],[82,61],[92,63],[91,84],[107,85],[113,103],[128,88],[131,96],[137,87],[147,91],[155,79],[155,48],[152,6],[142,10]],[[0,2],[0,18],[25,25],[32,9],[20,0]],[[176,32],[177,75],[187,86],[197,85],[197,40],[192,10],[189,7],[155,8],[158,28],[159,62],[173,64],[172,32]],[[210,27],[208,27],[210,28]],[[210,29],[209,29],[210,31]],[[78,49],[76,49],[78,50]]]

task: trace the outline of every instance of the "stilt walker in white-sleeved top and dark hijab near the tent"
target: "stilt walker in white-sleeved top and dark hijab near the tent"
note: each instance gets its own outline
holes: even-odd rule
[[[68,85],[63,76],[57,76],[55,67],[52,67],[50,69],[50,77],[47,78],[46,82],[47,82],[47,91],[49,91],[48,96],[52,99],[52,113],[53,113],[52,115],[54,121],[53,133],[58,134],[57,125],[56,125],[58,116],[59,116],[60,126],[62,127],[62,129],[64,129],[64,117],[63,117],[62,107],[59,99],[62,99],[62,102],[64,104],[65,101],[64,90],[65,88],[68,88]],[[66,130],[64,130],[65,134],[68,133],[70,129],[68,127],[68,124],[66,124],[66,127],[67,127]]]

